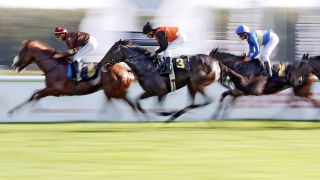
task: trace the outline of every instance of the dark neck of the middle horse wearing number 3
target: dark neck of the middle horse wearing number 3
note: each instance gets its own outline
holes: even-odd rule
[[[140,50],[139,50],[140,51]],[[155,69],[157,64],[145,55],[143,51],[138,52],[136,47],[122,48],[121,52],[126,57],[124,62],[133,70],[137,76],[149,74],[151,69]]]

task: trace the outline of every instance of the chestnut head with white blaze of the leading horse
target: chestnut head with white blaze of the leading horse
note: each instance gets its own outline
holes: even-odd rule
[[[40,43],[39,41],[23,41],[22,48],[19,51],[18,56],[13,59],[11,69],[18,70],[18,72],[20,72],[33,61],[52,57],[54,53],[54,49],[43,43]]]

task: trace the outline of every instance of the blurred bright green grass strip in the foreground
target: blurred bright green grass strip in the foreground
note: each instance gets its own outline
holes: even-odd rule
[[[320,179],[320,123],[0,124],[0,179]]]

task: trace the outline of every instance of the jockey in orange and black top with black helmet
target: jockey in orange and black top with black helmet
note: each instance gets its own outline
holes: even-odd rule
[[[156,56],[158,53],[163,53],[165,65],[160,70],[160,75],[170,74],[171,67],[171,51],[175,49],[177,45],[183,44],[187,41],[187,36],[178,27],[161,26],[153,28],[152,25],[147,22],[143,27],[143,34],[146,34],[148,38],[155,38],[160,47],[151,56]]]

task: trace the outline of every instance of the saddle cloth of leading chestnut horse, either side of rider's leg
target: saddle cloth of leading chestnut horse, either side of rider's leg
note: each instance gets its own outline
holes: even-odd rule
[[[98,63],[96,62],[89,62],[89,63],[83,63],[81,68],[81,81],[87,82],[90,80],[93,80],[98,77],[99,75],[99,69]],[[68,77],[70,79],[76,79],[76,68],[74,66],[74,63],[68,64]]]

